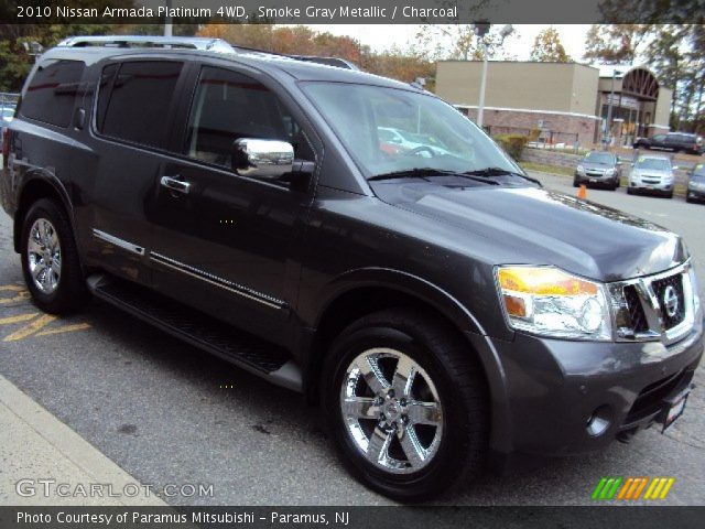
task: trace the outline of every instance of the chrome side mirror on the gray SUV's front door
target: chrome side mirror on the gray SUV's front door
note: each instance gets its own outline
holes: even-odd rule
[[[280,180],[293,171],[294,148],[285,141],[240,138],[232,143],[231,164],[241,176]]]

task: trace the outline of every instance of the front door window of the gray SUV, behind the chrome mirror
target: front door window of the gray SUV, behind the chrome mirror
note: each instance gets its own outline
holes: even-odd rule
[[[314,160],[303,131],[265,86],[237,72],[203,68],[184,152],[229,168],[232,142],[239,138],[288,141],[297,159]]]

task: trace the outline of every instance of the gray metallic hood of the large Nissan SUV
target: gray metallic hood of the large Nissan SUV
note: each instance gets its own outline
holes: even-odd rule
[[[687,258],[681,238],[660,226],[541,187],[387,182],[375,191],[397,207],[459,228],[469,251],[474,237],[501,245],[498,255],[516,256],[512,263],[553,264],[609,282],[660,272]]]

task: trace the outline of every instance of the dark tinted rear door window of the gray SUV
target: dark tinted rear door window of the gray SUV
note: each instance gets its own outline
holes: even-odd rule
[[[112,88],[104,87],[99,93],[98,130],[112,138],[163,147],[169,108],[182,66],[174,62],[123,63],[112,79],[110,72],[104,71],[101,83],[111,84]]]

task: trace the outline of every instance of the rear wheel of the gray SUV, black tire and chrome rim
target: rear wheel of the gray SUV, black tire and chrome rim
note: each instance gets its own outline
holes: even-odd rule
[[[34,304],[51,314],[82,306],[88,294],[66,213],[56,202],[35,202],[22,223],[22,272]]]

